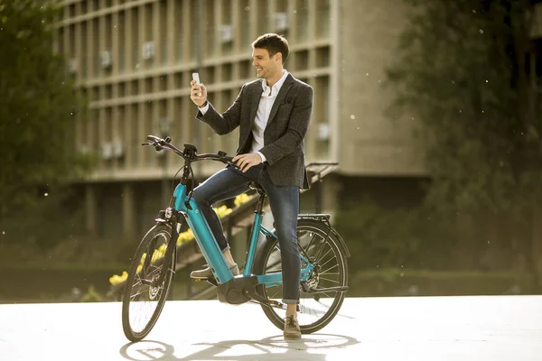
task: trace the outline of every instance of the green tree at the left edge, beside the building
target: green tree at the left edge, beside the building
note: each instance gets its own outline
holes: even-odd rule
[[[53,3],[0,0],[0,222],[87,163],[72,142],[84,104],[52,51]]]

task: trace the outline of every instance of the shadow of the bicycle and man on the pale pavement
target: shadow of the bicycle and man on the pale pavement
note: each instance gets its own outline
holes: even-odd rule
[[[121,356],[133,361],[187,361],[187,360],[215,360],[238,361],[254,360],[288,360],[306,357],[310,350],[310,359],[324,361],[327,353],[319,353],[318,349],[341,349],[359,344],[356,338],[331,334],[313,334],[304,336],[299,340],[285,340],[282,335],[262,338],[260,340],[226,340],[216,343],[201,342],[192,346],[209,346],[187,356],[174,355],[172,345],[160,341],[140,341],[128,343],[119,349]],[[241,351],[241,352],[239,352]]]

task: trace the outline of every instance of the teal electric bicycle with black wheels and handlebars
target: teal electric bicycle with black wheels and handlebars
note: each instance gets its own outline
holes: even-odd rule
[[[245,267],[234,277],[207,221],[192,199],[192,193],[187,191],[191,174],[193,189],[193,162],[210,160],[237,166],[232,162],[233,158],[221,151],[198,154],[192,144],[184,144],[180,150],[171,144],[170,137],[161,139],[148,135],[147,140],[148,143],[142,145],[154,146],[156,151],[172,151],[183,158],[184,165],[179,170],[182,178],[173,191],[169,207],[159,212],[154,227],[143,237],[132,258],[122,301],[126,338],[140,341],[154,328],[171,291],[177,259],[176,240],[184,222],[191,227],[201,254],[213,271],[214,278],[206,281],[216,286],[219,301],[230,304],[257,302],[267,319],[278,329],[283,329],[286,307],[280,301],[280,249],[274,231],[262,225],[265,190],[257,183],[251,183],[259,199]],[[264,236],[263,241],[257,246],[260,235]],[[326,214],[300,214],[297,237],[302,260],[298,321],[301,332],[310,334],[329,324],[341,308],[348,291],[347,258],[350,253]]]

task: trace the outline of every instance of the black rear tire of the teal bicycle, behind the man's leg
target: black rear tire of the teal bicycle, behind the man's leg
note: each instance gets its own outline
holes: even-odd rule
[[[308,219],[303,219],[303,220],[298,221],[298,225],[297,225],[298,237],[300,235],[300,232],[301,233],[313,232],[315,235],[318,235],[321,238],[323,243],[329,246],[330,251],[328,252],[332,252],[333,255],[335,255],[337,259],[337,268],[338,268],[338,273],[339,273],[337,281],[339,283],[337,283],[336,286],[346,286],[348,285],[348,264],[346,260],[346,254],[344,250],[342,249],[336,236],[334,236],[332,232],[329,232],[329,231],[330,231],[330,228],[326,224],[319,221],[308,220]],[[326,238],[328,234],[329,236]],[[271,271],[269,269],[268,264],[270,262],[271,255],[277,252],[276,251],[277,243],[278,243],[278,240],[270,239],[260,249],[259,255],[257,258],[256,268],[255,268],[255,271],[257,274],[265,274],[267,271]],[[303,246],[303,245],[300,244],[300,246]],[[302,268],[303,268],[303,263],[302,263]],[[280,270],[282,271],[282,267]],[[272,271],[273,272],[279,271],[276,264],[273,266]],[[282,287],[282,285],[276,286],[276,287]],[[257,293],[260,296],[263,296],[264,298],[269,299],[268,294],[267,294],[268,293],[267,287],[265,285],[262,285],[262,284],[258,285]],[[322,314],[322,317],[315,319],[311,323],[306,323],[306,324],[303,323],[304,311],[311,312],[311,310],[308,308],[304,308],[300,304],[300,306],[302,307],[300,308],[300,311],[298,312],[298,321],[300,324],[299,326],[300,326],[302,334],[311,334],[313,332],[316,332],[324,328],[332,321],[332,319],[337,315],[337,313],[341,309],[342,301],[344,301],[346,293],[345,292],[329,292],[329,293],[333,293],[334,295],[332,298],[331,305],[329,306],[329,309]],[[282,295],[282,291],[280,292],[280,295]],[[303,300],[307,300],[309,298],[308,295],[310,295],[310,293],[305,293],[303,291],[303,288],[300,287],[300,295],[301,295],[300,303],[302,303]],[[273,299],[274,296],[272,296],[271,298]],[[278,297],[278,299],[280,298],[281,297]],[[278,329],[284,329],[285,320],[282,314],[285,314],[285,310],[277,310],[276,308],[273,308],[267,305],[262,305],[262,310],[266,314],[267,319],[269,319]],[[314,315],[316,315],[316,312],[314,312]]]

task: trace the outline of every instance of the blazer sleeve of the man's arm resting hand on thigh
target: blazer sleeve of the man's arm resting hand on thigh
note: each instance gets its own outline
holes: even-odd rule
[[[286,133],[275,142],[260,149],[269,164],[280,160],[286,154],[294,152],[303,142],[313,113],[313,88],[306,86],[294,100],[294,108],[288,121]]]

